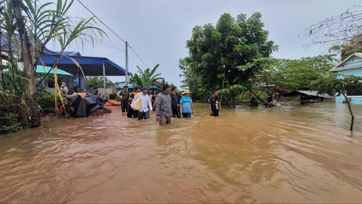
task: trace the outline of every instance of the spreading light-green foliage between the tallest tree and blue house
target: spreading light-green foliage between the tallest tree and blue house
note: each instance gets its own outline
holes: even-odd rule
[[[251,78],[250,89],[263,90],[266,94],[310,90],[311,83],[329,73],[334,55],[320,55],[297,60],[259,58],[239,68],[259,68]]]

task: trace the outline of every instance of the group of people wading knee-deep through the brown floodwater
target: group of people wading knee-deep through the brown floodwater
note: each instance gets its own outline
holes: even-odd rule
[[[127,112],[128,118],[149,119],[150,112],[155,112],[156,121],[160,125],[171,123],[173,118],[190,119],[194,113],[190,90],[185,90],[183,96],[179,95],[177,87],[168,84],[163,85],[162,91],[156,96],[151,97],[148,94],[146,86],[136,87],[135,91],[129,92],[128,86],[123,86],[120,92],[122,113]],[[212,92],[208,99],[210,115],[218,116],[221,105],[217,97],[217,91]]]

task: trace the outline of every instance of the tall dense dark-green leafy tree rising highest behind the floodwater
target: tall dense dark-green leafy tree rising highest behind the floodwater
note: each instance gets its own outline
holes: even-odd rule
[[[181,70],[185,69],[187,62],[187,69],[192,72],[183,72],[184,85],[191,91],[197,91],[200,86],[211,91],[246,85],[258,68],[239,67],[254,59],[269,57],[277,50],[274,42],[268,40],[268,34],[260,13],[254,13],[249,18],[240,14],[236,19],[225,13],[215,26],[210,23],[195,26],[191,39],[186,43],[190,55],[180,61]],[[190,77],[197,78],[199,83],[191,83]],[[235,100],[235,96],[230,100]]]

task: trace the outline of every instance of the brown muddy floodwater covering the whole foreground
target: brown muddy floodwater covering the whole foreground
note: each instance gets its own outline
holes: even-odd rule
[[[166,127],[121,117],[57,119],[0,139],[0,202],[360,203],[362,106],[250,110]],[[155,117],[155,116],[153,116]]]

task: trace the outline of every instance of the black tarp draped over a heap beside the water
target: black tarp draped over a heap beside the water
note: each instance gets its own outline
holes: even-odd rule
[[[84,99],[80,95],[74,94],[67,96],[67,99],[73,103],[73,116],[79,118],[88,117],[93,111],[103,108],[106,102],[105,99],[94,94],[86,94]]]

